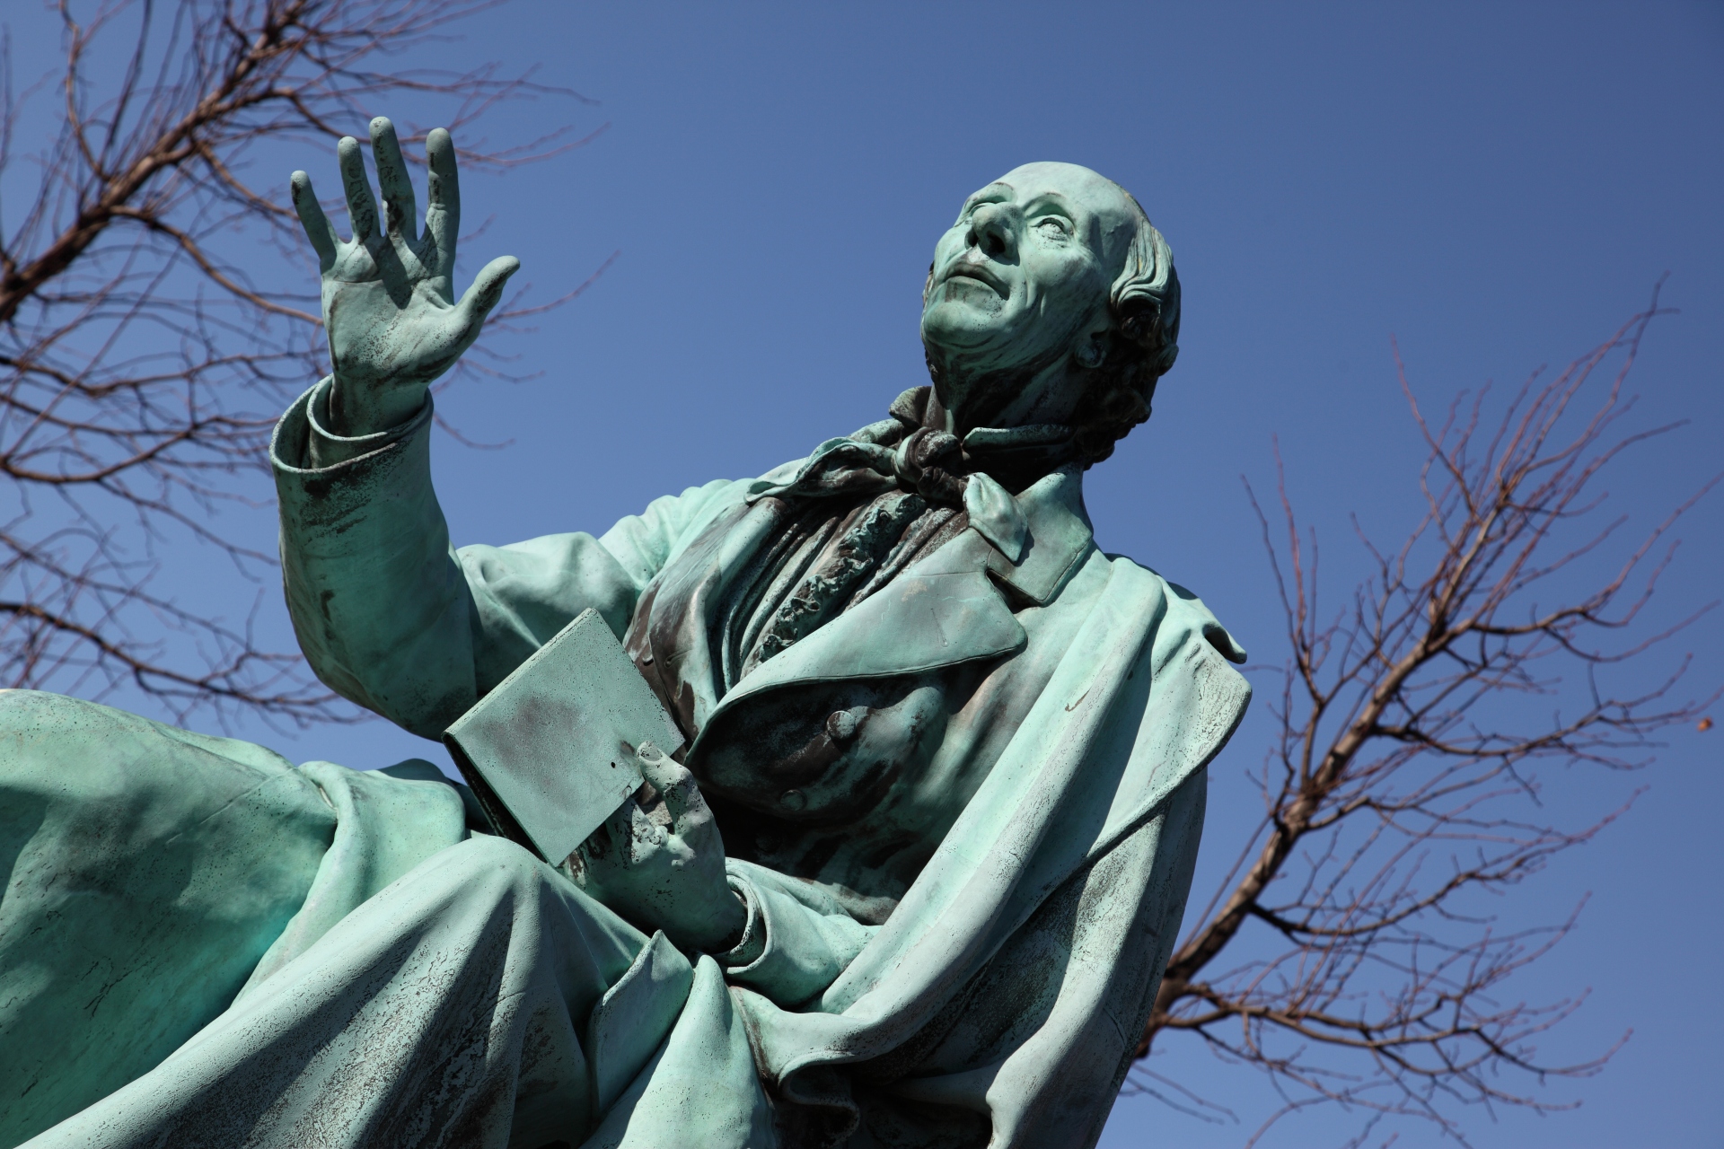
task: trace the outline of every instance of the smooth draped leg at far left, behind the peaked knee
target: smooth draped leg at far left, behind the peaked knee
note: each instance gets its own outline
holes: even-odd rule
[[[429,763],[295,768],[0,693],[0,1144],[155,1066],[464,822]]]

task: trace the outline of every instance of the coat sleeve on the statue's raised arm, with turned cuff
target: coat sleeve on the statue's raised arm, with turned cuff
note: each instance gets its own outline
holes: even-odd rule
[[[743,484],[655,500],[603,537],[450,546],[431,489],[431,401],[371,436],[328,432],[328,381],[276,425],[281,572],[300,649],[343,698],[424,737],[586,608],[621,637],[646,582]]]

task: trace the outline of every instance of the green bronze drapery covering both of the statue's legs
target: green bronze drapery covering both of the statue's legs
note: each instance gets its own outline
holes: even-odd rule
[[[0,693],[0,1144],[772,1144],[717,963],[429,763]]]

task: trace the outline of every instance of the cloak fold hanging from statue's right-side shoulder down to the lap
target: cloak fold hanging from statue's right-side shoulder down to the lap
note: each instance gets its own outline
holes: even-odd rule
[[[1090,1144],[1088,1128],[1036,1140],[1052,1132],[1033,1115],[1050,1090],[1088,1096],[1091,1113],[1105,1106],[1172,946],[1202,827],[1200,772],[1248,699],[1205,641],[1209,622],[1159,575],[1112,560],[1071,653],[869,944],[805,1009],[738,989],[767,1077],[786,1101],[828,1109],[826,1135],[859,1120],[841,1066],[896,1061],[900,1096],[986,1113],[995,1146]],[[1076,916],[1046,935],[1034,915],[1062,891]],[[1038,939],[1053,942],[1046,961],[990,966]],[[941,1058],[940,1027],[990,978],[996,997],[1043,1003],[1040,1023]],[[921,1049],[921,1063],[905,1049]],[[1072,1078],[1074,1051],[1084,1082]]]

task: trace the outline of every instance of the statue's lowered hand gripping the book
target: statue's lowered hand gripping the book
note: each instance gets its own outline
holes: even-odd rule
[[[569,856],[588,894],[634,925],[664,930],[679,949],[731,947],[748,913],[724,877],[724,841],[700,786],[657,748],[640,749],[646,779]]]

